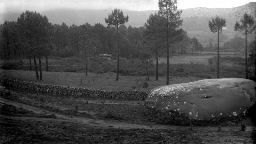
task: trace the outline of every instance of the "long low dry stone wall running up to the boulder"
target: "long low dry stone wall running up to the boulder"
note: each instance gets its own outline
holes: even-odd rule
[[[92,98],[104,99],[127,99],[127,100],[145,100],[149,91],[104,91],[87,88],[76,88],[51,84],[37,84],[11,78],[1,77],[1,84],[11,87],[21,88],[24,90],[32,90],[37,92],[45,92],[51,94],[62,94],[68,96],[84,96]]]

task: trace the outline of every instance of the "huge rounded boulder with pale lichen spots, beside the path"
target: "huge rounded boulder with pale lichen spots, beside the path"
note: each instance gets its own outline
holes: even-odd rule
[[[243,78],[204,79],[151,90],[145,107],[209,120],[245,115],[256,102],[256,83]]]

